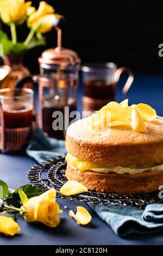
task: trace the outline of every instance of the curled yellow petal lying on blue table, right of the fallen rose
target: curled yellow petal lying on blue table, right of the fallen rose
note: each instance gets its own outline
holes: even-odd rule
[[[77,206],[76,214],[74,214],[74,212],[70,210],[69,215],[74,218],[74,220],[76,220],[78,224],[81,225],[86,225],[92,220],[92,216],[83,206]]]

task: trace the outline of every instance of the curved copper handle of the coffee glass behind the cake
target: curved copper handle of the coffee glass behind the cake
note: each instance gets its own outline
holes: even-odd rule
[[[124,84],[124,87],[122,89],[122,94],[126,95],[134,80],[133,72],[129,68],[126,68],[126,66],[121,66],[121,68],[118,68],[115,72],[115,81],[116,82],[119,81],[120,76],[124,71],[128,73],[128,79],[126,81],[126,84]]]

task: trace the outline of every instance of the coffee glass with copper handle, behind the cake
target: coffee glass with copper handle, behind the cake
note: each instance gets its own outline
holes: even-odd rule
[[[89,63],[83,71],[83,111],[97,111],[110,101],[115,100],[117,83],[122,72],[128,73],[128,80],[122,94],[126,94],[133,82],[133,73],[126,67],[117,68],[112,62]]]

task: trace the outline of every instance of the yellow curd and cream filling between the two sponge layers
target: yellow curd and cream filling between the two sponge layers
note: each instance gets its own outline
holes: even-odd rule
[[[117,174],[136,174],[145,172],[145,170],[163,170],[163,164],[158,163],[143,163],[143,164],[129,164],[128,166],[116,166],[110,165],[109,163],[104,162],[95,162],[95,161],[85,161],[78,159],[70,155],[69,153],[66,155],[66,161],[69,162],[73,167],[77,168],[81,172],[85,170],[92,170],[93,172],[98,173],[109,173],[114,172]]]

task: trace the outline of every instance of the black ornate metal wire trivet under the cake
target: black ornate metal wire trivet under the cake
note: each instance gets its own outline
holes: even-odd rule
[[[147,204],[163,203],[163,199],[158,197],[158,192],[146,194],[117,194],[117,193],[99,193],[96,191],[87,191],[76,196],[63,196],[59,191],[60,187],[67,181],[65,176],[66,161],[65,157],[55,157],[42,163],[35,164],[29,169],[27,179],[31,184],[37,185],[48,190],[54,187],[57,191],[57,197],[62,199],[80,200],[80,202],[91,202],[101,205],[136,205],[139,208]],[[85,197],[89,196],[89,198]]]

